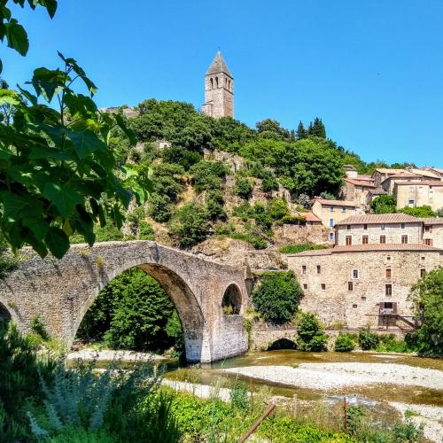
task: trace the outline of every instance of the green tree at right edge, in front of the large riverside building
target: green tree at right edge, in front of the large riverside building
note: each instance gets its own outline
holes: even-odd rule
[[[415,339],[417,350],[443,355],[443,268],[427,272],[414,284],[411,299],[420,321]]]

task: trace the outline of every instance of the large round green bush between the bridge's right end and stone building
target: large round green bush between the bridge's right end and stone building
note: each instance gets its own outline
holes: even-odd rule
[[[253,290],[253,305],[265,322],[283,324],[297,312],[301,289],[292,271],[265,272]]]

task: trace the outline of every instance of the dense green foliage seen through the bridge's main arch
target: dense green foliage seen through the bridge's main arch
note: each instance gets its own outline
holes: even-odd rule
[[[115,277],[83,317],[77,338],[104,340],[113,348],[164,351],[183,344],[167,293],[138,268]]]

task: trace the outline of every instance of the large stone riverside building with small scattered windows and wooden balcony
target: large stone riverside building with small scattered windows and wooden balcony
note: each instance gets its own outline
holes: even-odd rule
[[[410,287],[443,265],[443,250],[423,243],[348,245],[288,254],[287,260],[304,293],[300,308],[327,326],[410,330]]]

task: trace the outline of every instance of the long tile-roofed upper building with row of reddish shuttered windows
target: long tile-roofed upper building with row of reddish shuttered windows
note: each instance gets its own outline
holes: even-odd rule
[[[335,225],[336,245],[423,243],[424,222],[408,214],[354,215]]]

